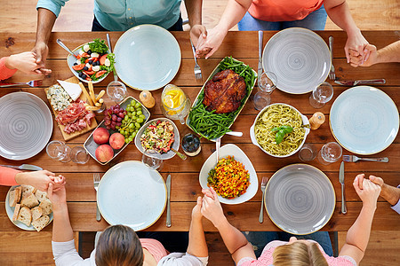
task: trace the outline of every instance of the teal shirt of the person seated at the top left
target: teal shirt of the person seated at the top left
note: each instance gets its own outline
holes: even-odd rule
[[[37,8],[45,8],[57,17],[68,0],[39,0]],[[172,27],[180,18],[181,0],[94,0],[94,15],[102,27],[125,31],[141,24]],[[79,20],[77,17],[76,20]]]

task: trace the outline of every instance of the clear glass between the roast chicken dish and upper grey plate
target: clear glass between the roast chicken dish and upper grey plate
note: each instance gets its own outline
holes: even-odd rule
[[[254,108],[256,110],[262,110],[265,106],[269,106],[271,103],[270,94],[276,88],[276,74],[272,72],[264,72],[259,76],[258,84],[259,91],[254,95]]]

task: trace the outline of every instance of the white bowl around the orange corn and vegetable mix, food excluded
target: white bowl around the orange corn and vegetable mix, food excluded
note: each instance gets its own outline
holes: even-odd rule
[[[220,147],[220,159],[227,157],[228,155],[234,156],[235,160],[243,163],[244,168],[249,171],[250,175],[250,185],[247,188],[246,192],[235,199],[226,199],[218,196],[218,199],[221,203],[225,204],[239,204],[244,203],[247,200],[251,200],[252,197],[257,193],[259,189],[259,180],[257,178],[257,173],[252,166],[252,161],[247,157],[247,155],[236,145],[228,144]],[[202,169],[200,170],[200,174],[198,176],[198,181],[202,188],[207,189],[207,177],[208,173],[215,168],[217,165],[217,152],[214,152],[205,160]]]

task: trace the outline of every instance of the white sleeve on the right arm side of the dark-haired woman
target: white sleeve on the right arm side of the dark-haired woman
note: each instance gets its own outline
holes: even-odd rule
[[[188,253],[170,253],[164,256],[157,266],[205,266],[208,257],[196,257]]]

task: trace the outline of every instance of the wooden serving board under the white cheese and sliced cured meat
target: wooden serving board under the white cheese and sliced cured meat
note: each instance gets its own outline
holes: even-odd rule
[[[78,83],[79,83],[79,80],[74,76],[74,77],[71,77],[71,78],[65,80],[64,82],[71,82],[71,83],[76,83],[76,84],[78,84]],[[53,85],[53,86],[55,86],[55,85]],[[53,87],[53,86],[52,86],[52,87]],[[45,88],[45,89],[44,89],[44,92],[46,93],[46,96],[48,95],[47,92],[48,92],[52,87],[49,87],[49,88]],[[62,93],[61,93],[61,94],[62,94]],[[65,95],[61,95],[60,98],[64,98],[64,96],[65,96]],[[50,103],[50,106],[52,106],[52,112],[54,113],[54,116],[55,116],[56,118],[57,118],[58,114],[61,112],[61,111],[60,111],[61,108],[66,108],[66,107],[68,108],[68,106],[71,105],[71,104],[73,103],[71,98],[70,98],[69,100],[65,100],[65,99],[59,100],[59,98],[57,98],[57,101],[56,101],[55,103],[52,103],[52,98],[47,98],[47,99],[48,99],[48,101],[49,101],[49,103]],[[85,96],[84,93],[81,93],[81,95],[79,96],[79,98],[77,98],[77,100],[79,100],[79,99],[81,99],[82,101],[87,101],[86,96]],[[69,104],[68,104],[68,102],[69,102]],[[59,109],[59,108],[60,108],[60,109]],[[87,111],[87,112],[92,113],[92,111]],[[78,126],[77,129],[74,130],[74,131],[72,131],[72,129],[71,129],[72,132],[70,132],[70,133],[67,132],[68,129],[67,129],[67,131],[65,130],[65,129],[68,127],[68,125],[63,125],[63,124],[60,123],[60,121],[57,121],[57,119],[56,119],[56,121],[57,121],[58,124],[59,124],[62,137],[64,137],[65,141],[68,141],[68,140],[70,140],[70,139],[72,139],[72,138],[74,138],[74,137],[78,137],[78,136],[80,136],[80,135],[82,135],[82,134],[84,134],[84,133],[86,133],[86,132],[89,132],[89,131],[92,130],[92,129],[95,129],[95,128],[97,127],[98,124],[97,124],[97,121],[96,121],[96,119],[95,119],[94,114],[91,115],[91,116],[92,116],[92,117],[89,119],[89,121],[86,122],[85,127],[83,127],[83,126]],[[71,128],[71,127],[69,127],[69,129],[70,129],[70,128]]]

